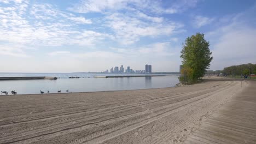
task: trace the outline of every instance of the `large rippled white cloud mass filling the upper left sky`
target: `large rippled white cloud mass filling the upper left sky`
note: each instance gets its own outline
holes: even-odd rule
[[[51,4],[4,1],[0,6],[0,41],[26,47],[80,45],[94,46],[109,34],[90,31],[78,25],[90,19],[66,13]],[[28,9],[28,5],[30,8]],[[90,32],[91,35],[85,35]],[[113,37],[111,37],[113,38]]]

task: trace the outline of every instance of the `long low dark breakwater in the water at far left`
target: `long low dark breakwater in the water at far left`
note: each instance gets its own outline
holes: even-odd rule
[[[0,77],[0,81],[1,80],[57,80],[57,77],[50,77],[50,76]]]

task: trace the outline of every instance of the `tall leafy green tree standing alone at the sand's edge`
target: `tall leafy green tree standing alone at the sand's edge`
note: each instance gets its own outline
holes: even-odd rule
[[[189,73],[190,81],[198,80],[209,68],[213,59],[209,49],[210,43],[205,40],[205,35],[196,33],[185,40],[181,51],[182,64],[191,69]]]

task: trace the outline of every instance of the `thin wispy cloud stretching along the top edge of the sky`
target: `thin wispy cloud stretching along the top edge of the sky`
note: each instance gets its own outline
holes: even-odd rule
[[[106,11],[118,11],[118,10],[140,10],[151,11],[158,14],[174,14],[181,13],[188,8],[195,7],[198,1],[172,1],[171,7],[164,8],[164,5],[160,1],[152,0],[83,0],[69,10],[76,13],[104,13]]]

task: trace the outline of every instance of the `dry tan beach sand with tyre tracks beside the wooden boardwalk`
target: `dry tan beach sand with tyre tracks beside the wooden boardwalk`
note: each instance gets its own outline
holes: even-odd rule
[[[0,97],[0,143],[183,143],[248,83]]]

